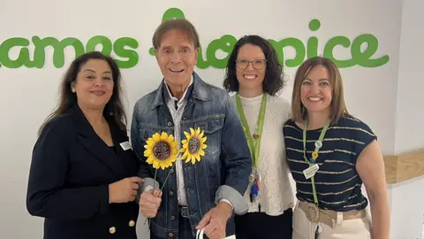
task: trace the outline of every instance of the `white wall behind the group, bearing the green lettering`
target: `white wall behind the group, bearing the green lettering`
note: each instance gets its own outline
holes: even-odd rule
[[[412,1],[410,1],[412,2]],[[408,3],[406,1],[405,3]],[[418,3],[418,0],[417,0]],[[66,1],[51,0],[24,1],[3,0],[0,2],[0,22],[4,22],[0,31],[0,44],[11,37],[24,37],[30,40],[34,35],[41,38],[53,36],[61,40],[65,37],[76,37],[84,44],[95,35],[105,35],[112,42],[119,37],[133,37],[139,43],[136,52],[139,62],[136,66],[123,69],[125,79],[127,112],[131,111],[135,101],[142,95],[155,89],[161,73],[156,66],[155,58],[148,54],[151,47],[151,36],[160,24],[163,12],[171,7],[181,9],[187,19],[193,21],[201,35],[201,45],[206,56],[208,44],[223,35],[233,35],[239,38],[246,34],[259,34],[276,41],[287,37],[299,38],[307,44],[310,37],[318,39],[318,54],[326,42],[337,35],[344,35],[351,40],[358,35],[371,34],[378,39],[378,49],[371,58],[390,57],[387,64],[378,67],[352,66],[342,68],[345,81],[345,98],[350,112],[373,128],[379,137],[383,153],[393,154],[395,150],[419,147],[416,141],[406,142],[415,131],[398,132],[399,112],[405,111],[404,105],[410,105],[407,99],[410,88],[417,86],[420,74],[409,77],[411,63],[403,59],[410,58],[406,47],[413,42],[404,36],[402,28],[402,50],[399,66],[399,44],[401,23],[405,25],[405,9],[402,12],[401,1],[295,1],[269,0],[257,1],[130,1],[115,2],[93,1]],[[412,10],[420,9],[416,6]],[[421,7],[422,9],[422,7]],[[417,10],[418,12],[418,10]],[[402,13],[404,13],[402,15]],[[360,15],[360,18],[357,15]],[[417,17],[420,16],[417,14]],[[410,17],[413,21],[413,17]],[[231,20],[230,20],[231,19]],[[311,31],[308,27],[311,19],[319,19],[321,27]],[[403,21],[401,21],[401,19]],[[422,17],[421,17],[422,19]],[[411,31],[417,31],[416,28]],[[422,39],[422,38],[421,38]],[[419,40],[416,40],[419,42]],[[422,41],[421,41],[422,42]],[[405,46],[404,46],[405,44]],[[366,44],[362,50],[366,50]],[[34,45],[28,47],[31,58],[34,55]],[[416,47],[411,49],[417,52]],[[69,66],[74,57],[73,51],[68,48],[65,52],[65,64],[62,68],[53,66],[53,49],[46,50],[46,64],[42,69],[19,67],[11,69],[0,67],[0,238],[42,238],[42,220],[29,216],[25,206],[27,191],[27,173],[31,160],[31,151],[36,139],[36,130],[42,120],[56,104],[57,87],[60,77],[66,66]],[[4,52],[0,46],[0,65],[4,65]],[[294,50],[284,49],[285,58],[293,58]],[[405,54],[405,55],[404,55]],[[11,59],[17,58],[19,48],[10,51]],[[218,50],[217,58],[224,58],[228,53]],[[345,49],[337,46],[334,56],[340,59],[352,58],[351,47]],[[417,55],[416,58],[419,55]],[[125,60],[125,58],[120,58]],[[405,66],[404,66],[405,65]],[[292,80],[296,67],[285,67],[289,76],[289,84],[283,96],[290,99],[292,96]],[[205,81],[221,86],[223,69],[208,67],[197,69]],[[399,80],[398,81],[398,77]],[[400,81],[407,78],[408,84]],[[406,89],[405,89],[406,88]],[[420,88],[415,88],[418,92]],[[402,93],[404,92],[404,93]],[[377,96],[378,94],[378,96]],[[398,97],[396,97],[398,96]],[[419,107],[420,104],[416,104]],[[419,112],[416,108],[416,112]],[[422,114],[422,112],[420,112]],[[405,114],[401,114],[402,117]],[[130,117],[131,118],[131,117]],[[402,118],[411,120],[412,118]],[[400,120],[401,121],[401,120]],[[129,122],[130,123],[130,122]],[[409,127],[411,122],[402,124]],[[408,129],[410,130],[410,129]],[[396,134],[396,140],[395,140]],[[398,135],[405,134],[404,138]],[[399,147],[398,141],[405,143]],[[400,144],[399,144],[400,145]],[[396,193],[390,192],[393,196]],[[391,200],[396,202],[397,197]],[[144,220],[141,220],[143,223]],[[22,229],[25,228],[25,229]],[[140,227],[142,234],[145,227]],[[143,237],[141,238],[148,238]],[[393,237],[394,239],[415,239],[413,237]]]

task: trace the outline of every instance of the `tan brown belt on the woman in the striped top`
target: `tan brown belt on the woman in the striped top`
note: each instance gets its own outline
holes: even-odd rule
[[[337,224],[337,212],[332,210],[325,210],[318,208],[317,205],[299,201],[300,209],[307,214],[307,220],[314,223],[324,223],[329,227],[336,227]],[[355,220],[362,219],[367,216],[365,209],[363,210],[352,210],[349,212],[341,212],[343,214],[343,220]]]

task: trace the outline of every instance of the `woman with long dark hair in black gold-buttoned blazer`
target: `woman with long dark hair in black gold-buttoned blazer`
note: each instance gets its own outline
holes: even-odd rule
[[[141,179],[121,102],[117,63],[100,52],[73,60],[57,109],[34,145],[27,210],[45,239],[137,238]]]

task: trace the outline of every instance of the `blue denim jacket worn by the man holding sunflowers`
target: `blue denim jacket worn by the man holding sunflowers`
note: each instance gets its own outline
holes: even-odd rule
[[[178,199],[175,170],[155,169],[144,157],[144,145],[155,133],[173,134],[174,122],[163,99],[164,80],[158,89],[141,97],[134,106],[131,127],[133,150],[140,158],[139,176],[145,180],[138,197],[148,186],[163,186],[162,204],[151,220],[150,229],[156,236],[178,238]],[[251,154],[246,143],[243,127],[231,97],[223,89],[201,80],[193,73],[193,90],[181,120],[181,139],[190,127],[201,127],[207,136],[205,156],[195,165],[184,164],[189,220],[195,228],[203,216],[221,199],[230,201],[234,213],[244,214],[248,206],[243,199],[252,170]],[[137,199],[138,201],[139,199]],[[234,234],[233,216],[227,221],[227,235]]]

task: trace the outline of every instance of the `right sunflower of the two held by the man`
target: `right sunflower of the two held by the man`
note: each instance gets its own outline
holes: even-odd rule
[[[182,159],[186,159],[186,163],[192,161],[192,164],[197,161],[201,161],[201,156],[205,156],[205,149],[208,145],[205,144],[207,137],[203,137],[204,131],[201,131],[201,128],[198,127],[197,130],[194,130],[192,127],[190,128],[190,134],[184,132],[186,135],[186,139],[183,140],[183,147],[180,152],[184,153],[181,157]]]

